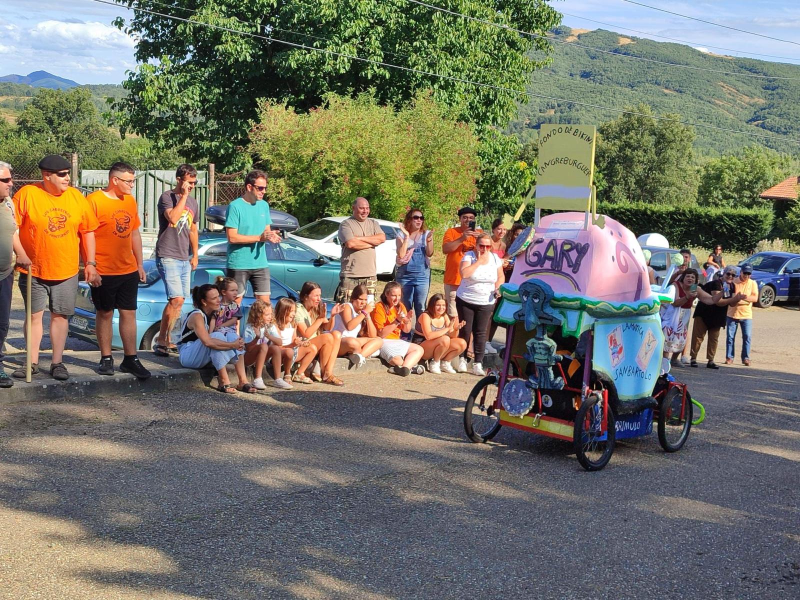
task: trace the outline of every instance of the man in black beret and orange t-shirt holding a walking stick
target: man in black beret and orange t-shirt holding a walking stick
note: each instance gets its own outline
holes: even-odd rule
[[[70,187],[71,165],[62,156],[50,154],[39,162],[42,182],[23,186],[14,194],[14,218],[19,227],[18,239],[23,260],[30,259],[30,298],[26,298],[28,273],[18,268],[19,290],[26,304],[30,301],[30,346],[32,372],[39,372],[39,345],[42,343],[42,316],[50,308],[50,343],[53,358],[50,377],[65,381],[70,378],[62,362],[69,318],[75,311],[78,294],[80,240],[86,250],[84,276],[90,286],[100,283],[94,260],[94,230],[97,218],[86,198]],[[18,262],[22,262],[18,260]],[[25,377],[25,369],[14,371],[14,377]]]

